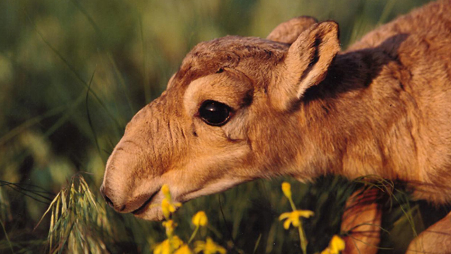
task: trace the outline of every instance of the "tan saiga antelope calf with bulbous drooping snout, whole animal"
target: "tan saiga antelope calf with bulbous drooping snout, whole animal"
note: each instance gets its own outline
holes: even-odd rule
[[[159,220],[151,205],[163,184],[186,202],[253,179],[329,173],[396,179],[415,198],[451,201],[451,0],[344,52],[338,24],[307,17],[267,39],[199,43],[129,122],[101,190],[118,212]],[[451,251],[450,220],[409,251]]]

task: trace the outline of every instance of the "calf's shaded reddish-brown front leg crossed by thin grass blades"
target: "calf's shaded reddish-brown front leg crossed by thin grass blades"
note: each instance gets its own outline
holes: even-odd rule
[[[376,254],[380,242],[382,208],[378,189],[357,190],[346,202],[341,232],[347,233],[344,254]]]

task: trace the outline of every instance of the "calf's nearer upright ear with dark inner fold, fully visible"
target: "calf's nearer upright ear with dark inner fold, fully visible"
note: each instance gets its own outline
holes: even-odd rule
[[[338,24],[324,21],[305,30],[288,49],[279,84],[273,92],[281,109],[302,98],[306,89],[318,85],[340,51]],[[273,97],[274,98],[274,97]]]

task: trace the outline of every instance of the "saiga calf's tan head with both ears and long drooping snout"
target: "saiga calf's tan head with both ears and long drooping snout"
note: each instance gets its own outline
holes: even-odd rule
[[[163,184],[186,202],[262,177],[314,177],[296,163],[309,151],[299,112],[304,91],[324,79],[339,50],[338,25],[307,17],[267,39],[198,44],[127,125],[106,165],[107,201],[160,220]]]

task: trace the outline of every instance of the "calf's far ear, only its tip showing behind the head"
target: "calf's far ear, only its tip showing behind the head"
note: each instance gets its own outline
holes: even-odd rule
[[[267,39],[292,44],[302,32],[317,22],[318,20],[308,16],[290,19],[274,28]]]

